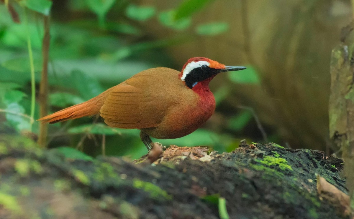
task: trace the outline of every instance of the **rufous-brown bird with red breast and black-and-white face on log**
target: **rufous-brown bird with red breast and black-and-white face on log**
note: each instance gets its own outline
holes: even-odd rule
[[[57,123],[98,114],[114,128],[139,129],[148,150],[150,137],[186,136],[204,124],[215,111],[209,82],[221,72],[246,69],[194,57],[181,71],[167,67],[147,69],[96,97],[38,119]]]

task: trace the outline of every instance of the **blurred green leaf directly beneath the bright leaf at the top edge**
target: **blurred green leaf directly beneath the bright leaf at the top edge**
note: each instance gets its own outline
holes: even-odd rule
[[[176,29],[176,30],[185,30],[190,26],[191,19],[190,18],[181,18],[175,20],[175,13],[176,11],[164,11],[161,12],[159,15],[159,21],[162,25],[165,25],[169,28]]]

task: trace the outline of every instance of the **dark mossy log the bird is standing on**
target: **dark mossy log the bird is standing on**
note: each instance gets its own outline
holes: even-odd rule
[[[349,218],[318,195],[316,175],[347,193],[342,160],[324,152],[242,143],[165,155],[70,160],[0,135],[0,218]]]

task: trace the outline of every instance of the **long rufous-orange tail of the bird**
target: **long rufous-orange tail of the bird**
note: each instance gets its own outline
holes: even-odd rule
[[[104,91],[102,94],[93,97],[92,99],[87,100],[86,102],[70,106],[68,108],[62,109],[61,111],[42,117],[38,119],[38,121],[47,123],[57,123],[69,119],[77,119],[84,116],[93,116],[95,114],[99,114],[99,110],[103,106],[103,103],[107,97],[109,90],[110,89]]]

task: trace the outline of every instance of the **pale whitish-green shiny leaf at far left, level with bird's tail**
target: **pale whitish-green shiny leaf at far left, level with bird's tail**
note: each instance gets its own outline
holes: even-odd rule
[[[17,131],[30,130],[30,120],[29,118],[21,116],[24,114],[24,108],[18,103],[10,103],[7,105],[6,111],[11,113],[6,113],[6,119],[8,123],[11,124]]]

